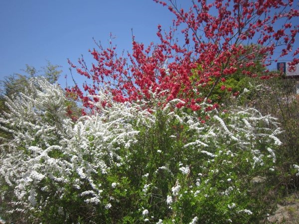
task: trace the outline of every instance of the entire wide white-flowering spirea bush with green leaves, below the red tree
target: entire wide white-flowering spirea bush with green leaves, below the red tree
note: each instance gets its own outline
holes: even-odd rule
[[[270,115],[206,102],[193,112],[160,98],[149,110],[99,92],[101,103],[74,121],[58,85],[29,84],[0,118],[13,136],[0,152],[6,221],[251,223],[272,209],[281,142]]]

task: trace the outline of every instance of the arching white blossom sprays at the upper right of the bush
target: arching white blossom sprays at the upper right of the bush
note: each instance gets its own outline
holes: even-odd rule
[[[207,155],[209,158],[215,157],[209,148],[220,147],[225,143],[238,150],[250,150],[252,157],[252,166],[263,165],[264,157],[272,158],[276,162],[274,149],[267,147],[261,150],[259,144],[264,142],[272,146],[279,146],[282,142],[277,135],[282,132],[278,126],[277,119],[270,115],[263,116],[256,109],[248,108],[246,110],[232,110],[229,122],[226,123],[221,116],[213,115],[215,122],[209,127],[202,127],[199,121],[188,119],[191,129],[197,132],[198,138],[195,141],[185,145],[187,148],[197,149],[200,153]],[[200,126],[202,128],[200,128]],[[203,134],[204,132],[204,134]],[[221,136],[221,137],[220,137]],[[226,142],[223,142],[226,139]],[[234,152],[228,150],[231,156]],[[229,162],[229,161],[228,161]]]

